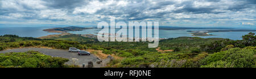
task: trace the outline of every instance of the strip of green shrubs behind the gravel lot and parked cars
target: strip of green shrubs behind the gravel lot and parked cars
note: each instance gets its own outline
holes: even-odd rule
[[[11,40],[14,41],[11,41]],[[78,41],[68,40],[53,40],[53,39],[36,39],[36,38],[22,38],[16,35],[0,36],[0,41],[8,41],[0,43],[0,51],[6,48],[19,48],[19,47],[51,47],[56,49],[68,49],[69,47],[76,47],[85,49],[86,44],[81,44]],[[91,47],[88,45],[88,47]]]

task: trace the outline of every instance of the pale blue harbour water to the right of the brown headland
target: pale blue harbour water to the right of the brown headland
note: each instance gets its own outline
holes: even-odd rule
[[[236,32],[210,32],[213,36],[192,36],[191,32],[187,31],[205,31],[205,30],[217,30],[217,29],[188,29],[188,30],[159,30],[159,38],[168,39],[168,38],[178,38],[181,36],[187,37],[200,37],[200,38],[225,38],[232,40],[242,40],[242,36],[248,34],[249,32],[255,31],[236,31]],[[83,31],[72,31],[69,33],[72,34],[94,34],[97,35],[99,29],[89,29]],[[141,34],[141,32],[140,32]]]

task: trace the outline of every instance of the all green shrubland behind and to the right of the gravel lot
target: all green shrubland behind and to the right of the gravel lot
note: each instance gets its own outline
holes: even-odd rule
[[[71,38],[72,37],[72,38]],[[0,36],[0,50],[18,47],[52,47],[68,49],[102,50],[124,59],[115,59],[109,67],[178,67],[178,68],[251,68],[255,66],[256,36],[254,33],[242,36],[243,40],[221,38],[170,38],[159,41],[161,50],[147,48],[148,42],[99,42],[95,38],[80,35],[64,35],[49,39],[20,38],[12,35]],[[15,41],[10,41],[15,39]]]

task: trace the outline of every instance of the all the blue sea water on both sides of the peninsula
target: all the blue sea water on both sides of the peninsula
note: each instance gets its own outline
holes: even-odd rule
[[[18,35],[21,37],[33,37],[38,38],[41,36],[47,36],[59,33],[49,33],[43,31],[44,29],[51,27],[0,27],[0,35]],[[187,31],[200,31],[208,29],[188,29],[188,30],[159,30],[159,38],[178,38],[181,36],[187,37],[200,37],[200,38],[225,38],[232,40],[241,40],[242,35],[246,35],[248,32],[210,32],[214,36],[192,36],[191,32]],[[72,34],[94,34],[97,35],[100,29],[88,29],[83,31],[72,31]],[[253,31],[256,33],[255,31]]]

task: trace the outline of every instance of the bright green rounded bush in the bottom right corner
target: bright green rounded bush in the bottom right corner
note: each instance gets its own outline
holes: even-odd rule
[[[253,68],[255,67],[255,47],[232,48],[217,52],[202,60],[203,68]]]

